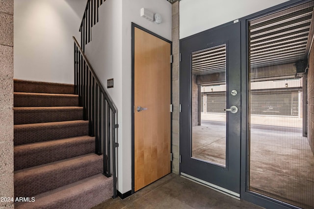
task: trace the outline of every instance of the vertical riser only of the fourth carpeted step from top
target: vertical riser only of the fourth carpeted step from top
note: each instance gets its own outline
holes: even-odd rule
[[[60,127],[47,129],[14,129],[14,145],[29,144],[61,138],[88,135],[88,124],[74,127]]]

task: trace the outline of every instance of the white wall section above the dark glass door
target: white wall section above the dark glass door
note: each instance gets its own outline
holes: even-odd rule
[[[180,39],[288,0],[181,0]]]

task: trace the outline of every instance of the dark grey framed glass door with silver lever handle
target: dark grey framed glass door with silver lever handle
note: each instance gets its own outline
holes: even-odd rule
[[[180,173],[239,197],[240,23],[184,38],[180,50]]]

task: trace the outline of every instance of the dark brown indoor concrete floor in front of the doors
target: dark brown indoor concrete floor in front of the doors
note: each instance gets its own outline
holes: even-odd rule
[[[169,174],[122,200],[109,199],[93,209],[261,209],[206,186]]]

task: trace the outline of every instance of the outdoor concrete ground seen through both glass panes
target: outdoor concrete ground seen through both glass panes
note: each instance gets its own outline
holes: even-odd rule
[[[302,120],[258,117],[260,122],[251,128],[250,190],[313,209],[314,156],[299,128]],[[202,126],[192,127],[192,156],[224,165],[225,132],[225,123],[219,120],[202,121]]]

